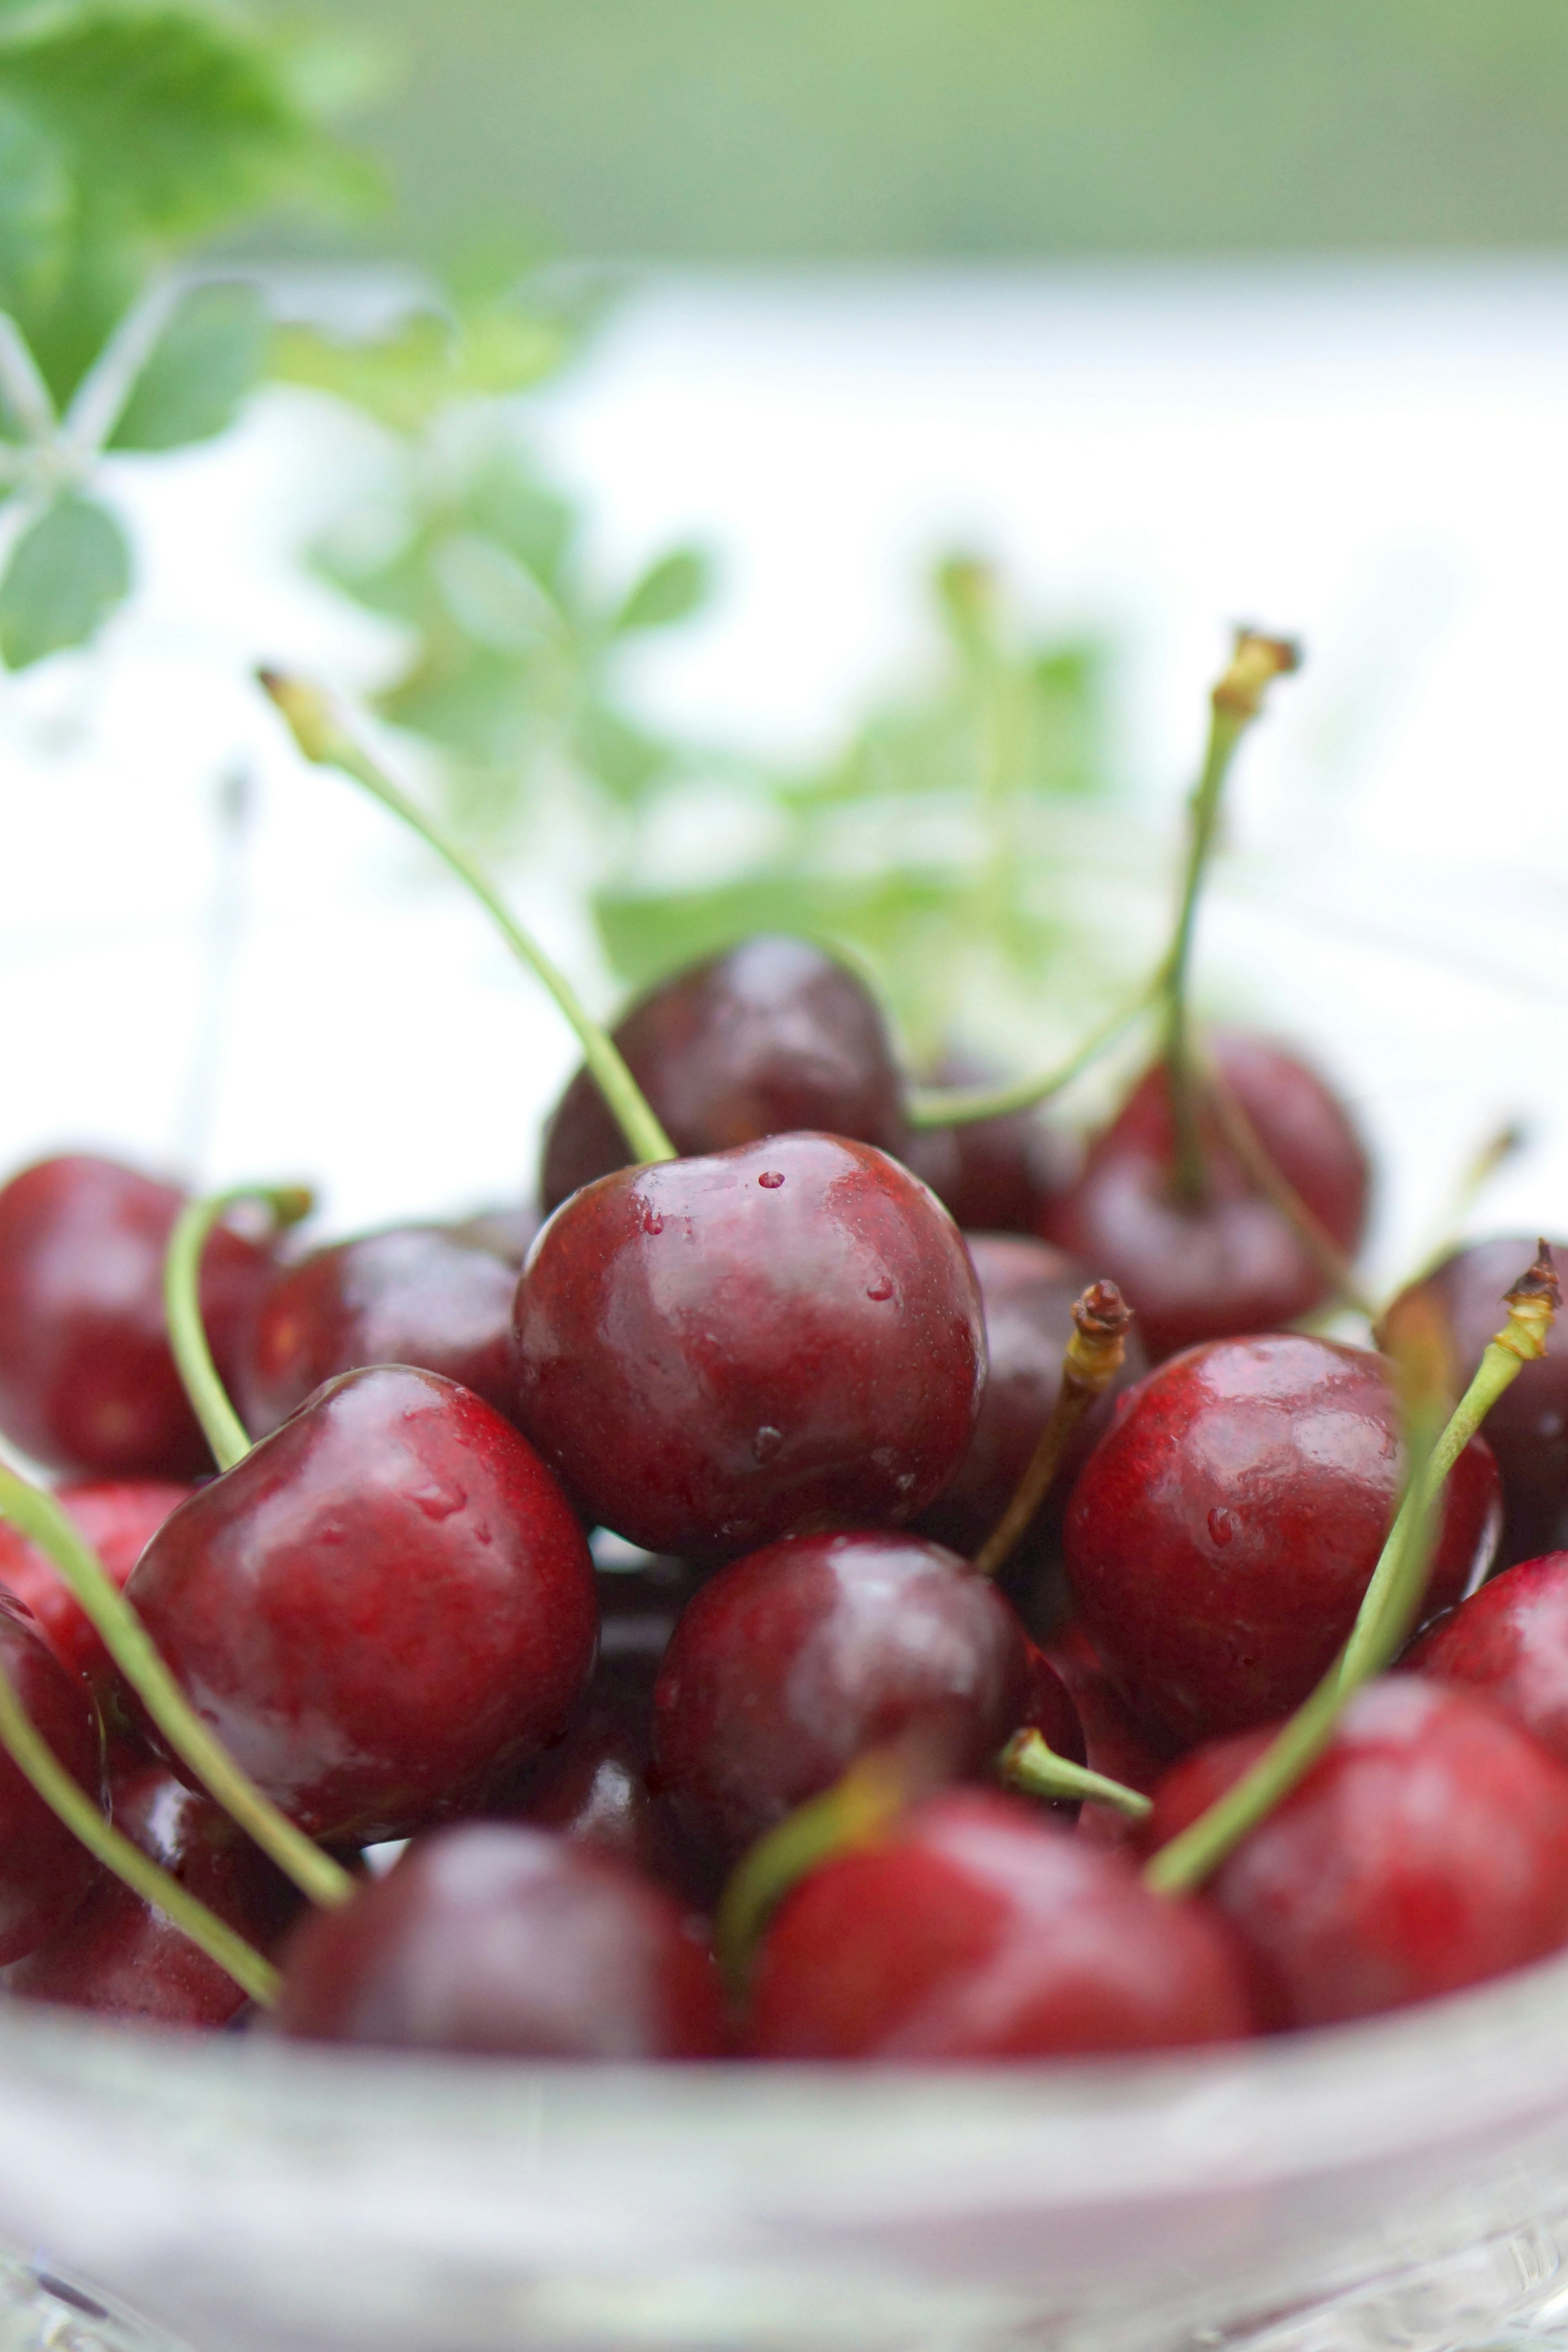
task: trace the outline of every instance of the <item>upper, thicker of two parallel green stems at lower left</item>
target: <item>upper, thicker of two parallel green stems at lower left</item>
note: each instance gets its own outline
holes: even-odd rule
[[[280,1813],[270,1797],[263,1797],[252,1776],[235,1764],[193,1712],[134,1606],[103,1573],[99,1555],[54,1496],[45,1494],[42,1486],[31,1486],[14,1470],[0,1468],[0,1519],[9,1519],[49,1555],[61,1581],[99,1630],[108,1656],[207,1795],[223,1806],[230,1820],[240,1823],[284,1877],[294,1879],[303,1896],[313,1903],[348,1903],[355,1882]]]

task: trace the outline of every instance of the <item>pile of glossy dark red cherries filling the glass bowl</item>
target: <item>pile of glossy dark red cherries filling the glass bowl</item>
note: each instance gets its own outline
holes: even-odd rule
[[[1164,1058],[1081,1155],[1034,1112],[914,1129],[875,1000],[797,938],[677,974],[616,1042],[679,1157],[628,1164],[581,1073],[538,1232],[214,1228],[200,1310],[254,1437],[221,1475],[165,1327],[181,1195],[96,1157],[0,1190],[0,1430],[348,1900],[303,1903],[193,1785],[9,1524],[0,1668],[92,1804],[277,1962],[270,2030],[1131,2051],[1568,1940],[1568,1336],[1460,1454],[1399,1668],[1199,1891],[1140,1872],[1333,1665],[1403,1486],[1389,1357],[1300,1329],[1368,1162],[1295,1054],[1208,1042],[1194,1190]],[[1458,1392],[1533,1254],[1458,1251],[1389,1345],[1439,1310]],[[978,1573],[1095,1282],[1135,1312],[1126,1364]],[[1023,1731],[1110,1802],[1004,1785]],[[759,1853],[722,1976],[715,1905]],[[252,2016],[9,1755],[0,1962],[28,1999]]]

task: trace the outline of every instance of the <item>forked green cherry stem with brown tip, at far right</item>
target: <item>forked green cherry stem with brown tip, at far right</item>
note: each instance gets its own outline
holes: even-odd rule
[[[1389,1541],[1361,1597],[1352,1635],[1312,1696],[1269,1740],[1258,1762],[1206,1813],[1180,1830],[1145,1867],[1145,1884],[1161,1896],[1190,1893],[1225,1860],[1248,1830],[1291,1795],[1333,1738],[1347,1698],[1394,1661],[1415,1625],[1427,1590],[1436,1515],[1455,1461],[1523,1364],[1547,1352],[1561,1291],[1552,1254],[1507,1294],[1509,1317],[1488,1343],[1476,1376],[1443,1425],[1446,1336],[1436,1308],[1401,1317],[1396,1357],[1406,1388],[1406,1451],[1410,1479]]]

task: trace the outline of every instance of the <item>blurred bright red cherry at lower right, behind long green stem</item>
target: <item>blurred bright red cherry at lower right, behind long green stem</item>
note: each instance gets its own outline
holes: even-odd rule
[[[1140,1842],[1175,1837],[1265,1745],[1246,1733],[1178,1764]],[[1356,1691],[1331,1750],[1208,1896],[1274,2025],[1458,1992],[1568,1938],[1568,1773],[1469,1693],[1389,1675]]]

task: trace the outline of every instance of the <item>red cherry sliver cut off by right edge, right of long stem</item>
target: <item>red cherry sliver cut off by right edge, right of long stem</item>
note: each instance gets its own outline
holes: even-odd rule
[[[1401,1665],[1472,1691],[1568,1764],[1568,1552],[1519,1559],[1493,1576]]]

